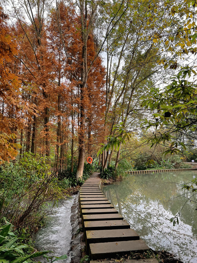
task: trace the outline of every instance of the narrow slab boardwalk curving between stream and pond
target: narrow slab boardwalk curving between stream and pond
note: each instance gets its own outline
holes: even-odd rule
[[[100,189],[99,173],[93,173],[80,189],[80,211],[86,253],[90,255],[91,263],[99,259],[117,257],[130,251],[142,252],[149,247],[138,234],[130,228],[126,220],[107,200]],[[102,261],[103,263],[112,262]],[[127,262],[143,262],[128,260]],[[156,259],[146,259],[146,262],[156,263]]]

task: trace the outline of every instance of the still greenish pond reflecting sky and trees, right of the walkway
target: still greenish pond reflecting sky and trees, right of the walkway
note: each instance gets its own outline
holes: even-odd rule
[[[130,175],[102,190],[151,249],[197,263],[197,195],[187,202],[179,185],[195,178],[197,171]],[[178,212],[179,225],[173,226],[168,219]]]

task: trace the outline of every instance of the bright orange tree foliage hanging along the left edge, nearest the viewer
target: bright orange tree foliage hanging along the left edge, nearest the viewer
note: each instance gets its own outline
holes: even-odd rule
[[[15,159],[17,130],[24,127],[21,114],[32,112],[32,104],[22,98],[22,81],[17,76],[15,57],[18,46],[0,7],[0,163]]]

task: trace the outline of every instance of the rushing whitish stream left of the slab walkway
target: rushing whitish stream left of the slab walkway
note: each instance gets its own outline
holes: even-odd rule
[[[69,263],[70,241],[72,237],[72,228],[70,223],[71,207],[74,202],[75,195],[66,200],[58,202],[58,207],[54,207],[54,213],[49,216],[46,225],[36,233],[35,245],[39,250],[52,250],[53,254],[49,256],[62,256],[67,254],[66,260],[59,260],[59,263]],[[52,205],[52,204],[51,204]],[[46,258],[36,258],[42,263],[48,262]]]

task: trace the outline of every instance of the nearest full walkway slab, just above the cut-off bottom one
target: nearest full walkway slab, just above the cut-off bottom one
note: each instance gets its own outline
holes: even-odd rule
[[[143,252],[147,249],[149,247],[143,240],[92,243],[90,244],[90,258],[92,260],[105,259],[108,257],[117,257],[117,254],[123,255],[131,251]]]

